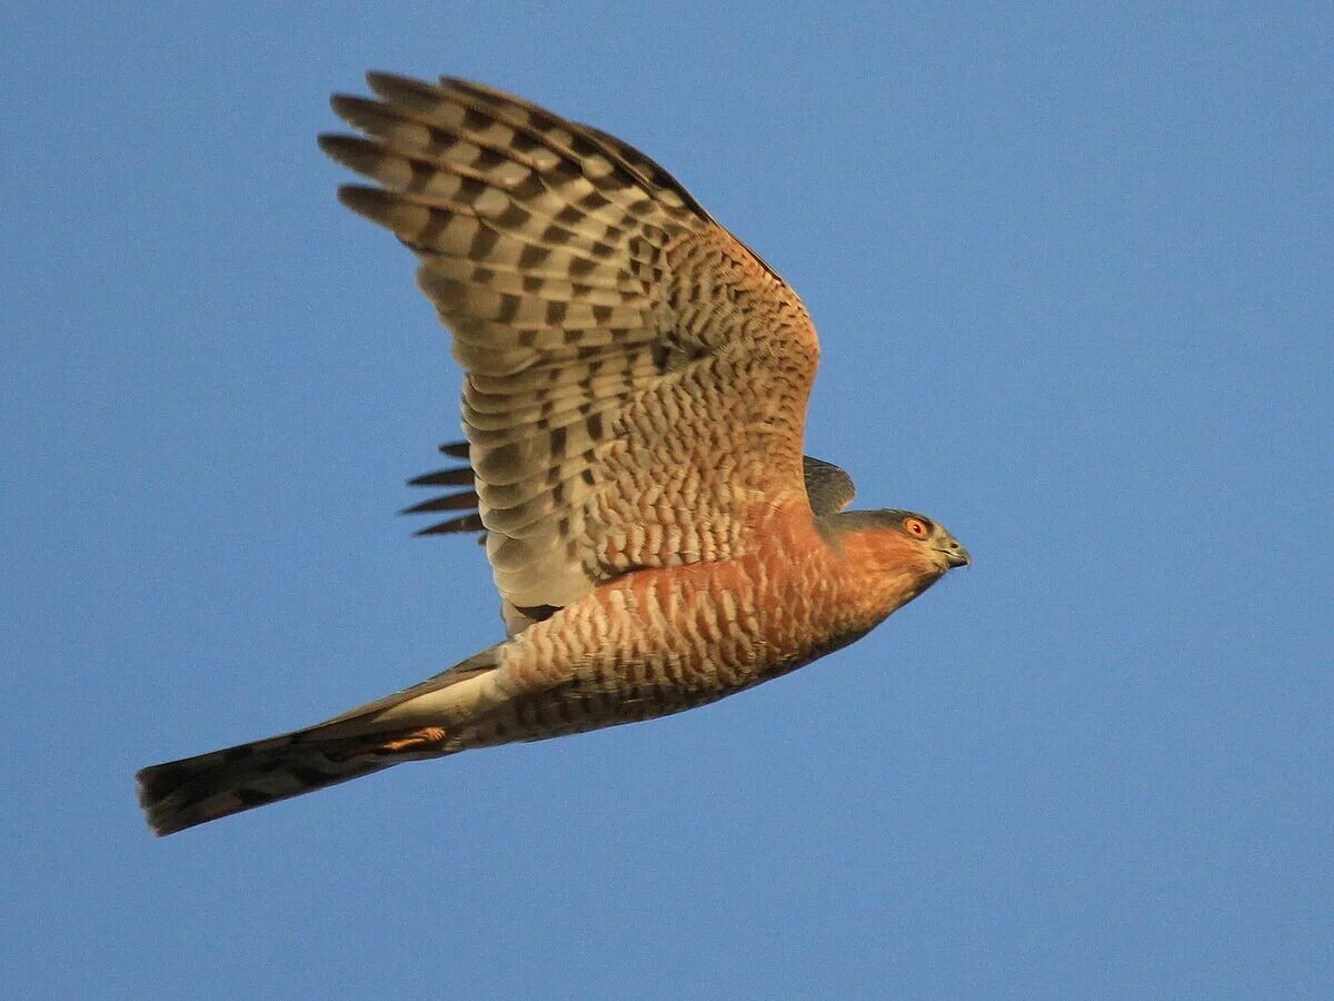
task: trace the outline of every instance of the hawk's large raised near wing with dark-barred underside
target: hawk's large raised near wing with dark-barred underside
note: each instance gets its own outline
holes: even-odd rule
[[[321,136],[379,182],[344,204],[422,260],[466,370],[487,555],[508,606],[744,553],[806,505],[819,346],[795,292],[652,160],[463,80],[368,76]]]

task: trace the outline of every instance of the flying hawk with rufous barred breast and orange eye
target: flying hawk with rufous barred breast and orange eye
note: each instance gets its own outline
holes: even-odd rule
[[[339,191],[416,254],[464,370],[459,492],[507,638],[304,730],[139,773],[171,834],[398,765],[678,713],[864,635],[968,554],[802,455],[819,343],[787,283],[626,143],[452,77],[371,73]]]

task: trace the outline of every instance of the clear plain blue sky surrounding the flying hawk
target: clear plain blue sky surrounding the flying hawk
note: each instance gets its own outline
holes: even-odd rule
[[[112,7],[0,13],[0,993],[1334,996],[1327,4]],[[394,515],[459,376],[315,147],[367,68],[660,160],[815,316],[810,451],[975,566],[156,841],[136,767],[500,631]]]

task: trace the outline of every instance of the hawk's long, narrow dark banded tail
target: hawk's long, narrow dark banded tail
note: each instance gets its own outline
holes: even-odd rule
[[[428,697],[494,670],[496,650],[305,730],[143,769],[136,778],[148,826],[157,836],[175,834],[404,761],[459,750],[439,719],[430,719],[440,699]],[[411,702],[423,706],[420,718],[403,711]]]

